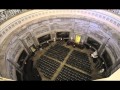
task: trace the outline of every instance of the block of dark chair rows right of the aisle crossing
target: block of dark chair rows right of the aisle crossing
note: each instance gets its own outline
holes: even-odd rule
[[[74,50],[67,60],[67,64],[91,73],[91,65],[86,53]]]

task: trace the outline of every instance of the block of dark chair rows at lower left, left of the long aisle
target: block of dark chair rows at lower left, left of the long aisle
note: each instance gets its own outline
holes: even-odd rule
[[[46,56],[41,56],[37,64],[44,76],[49,79],[51,79],[57,68],[60,66],[60,63],[49,59]]]

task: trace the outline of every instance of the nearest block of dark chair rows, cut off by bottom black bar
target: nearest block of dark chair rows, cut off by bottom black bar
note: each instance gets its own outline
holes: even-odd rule
[[[91,79],[91,76],[64,66],[57,76],[56,81],[90,81]]]

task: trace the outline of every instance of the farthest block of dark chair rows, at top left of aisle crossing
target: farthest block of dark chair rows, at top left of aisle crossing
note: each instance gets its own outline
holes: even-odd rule
[[[69,48],[56,44],[52,46],[48,51],[46,51],[45,55],[57,59],[59,61],[64,61],[69,51]]]

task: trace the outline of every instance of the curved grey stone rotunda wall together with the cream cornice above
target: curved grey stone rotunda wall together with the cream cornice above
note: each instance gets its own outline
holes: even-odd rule
[[[38,45],[38,37],[47,33],[54,36],[56,32],[66,30],[71,33],[71,37],[74,37],[75,34],[86,35],[97,39],[101,44],[105,39],[110,38],[108,45],[114,43],[114,47],[113,45],[108,46],[108,49],[112,50],[111,57],[113,57],[112,60],[115,64],[119,60],[118,54],[120,52],[120,45],[117,41],[117,38],[120,38],[119,29],[120,17],[103,10],[31,10],[1,25],[0,71],[3,76],[16,80],[15,68],[10,65],[7,59],[17,62],[16,60],[23,49],[29,54],[28,49],[21,40],[29,47],[29,44],[27,44],[29,42],[26,41],[29,35],[33,39],[31,44]],[[16,45],[15,50],[12,48],[13,44]]]

